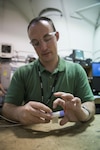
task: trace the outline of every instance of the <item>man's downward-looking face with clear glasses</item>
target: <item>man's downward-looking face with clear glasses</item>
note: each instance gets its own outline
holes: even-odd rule
[[[54,32],[52,26],[47,21],[31,25],[28,35],[42,62],[52,61],[57,57],[59,33]]]

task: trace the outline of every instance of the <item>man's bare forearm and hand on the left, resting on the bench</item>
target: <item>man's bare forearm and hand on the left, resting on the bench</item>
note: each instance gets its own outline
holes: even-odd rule
[[[46,105],[30,101],[23,106],[4,103],[2,115],[23,125],[48,123],[52,119],[52,110]]]

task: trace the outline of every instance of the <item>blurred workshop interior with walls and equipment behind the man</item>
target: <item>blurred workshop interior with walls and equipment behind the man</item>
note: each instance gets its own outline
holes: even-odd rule
[[[24,3],[24,5],[23,5]],[[99,0],[0,0],[0,81],[7,91],[13,73],[35,59],[27,26],[37,16],[51,18],[60,34],[58,53],[86,71],[100,113]],[[0,97],[0,107],[4,96]]]

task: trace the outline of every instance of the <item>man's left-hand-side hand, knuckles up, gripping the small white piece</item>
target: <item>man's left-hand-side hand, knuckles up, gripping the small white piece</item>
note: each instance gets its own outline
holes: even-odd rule
[[[46,105],[30,101],[21,106],[20,122],[23,124],[48,123],[52,119],[52,110]]]

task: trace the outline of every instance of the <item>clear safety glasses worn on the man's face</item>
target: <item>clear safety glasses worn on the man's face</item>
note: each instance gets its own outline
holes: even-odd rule
[[[48,42],[53,38],[53,36],[55,36],[56,33],[57,33],[57,32],[54,31],[54,32],[50,32],[50,33],[48,33],[48,34],[45,34],[45,35],[43,36],[43,39],[39,39],[39,40],[37,40],[37,39],[32,39],[32,40],[30,41],[30,44],[33,45],[34,47],[39,47],[39,46],[40,46],[40,41],[44,41],[45,43],[48,43]],[[49,39],[45,39],[47,36],[50,36],[50,35],[51,35],[51,37],[49,37]],[[32,43],[33,40],[36,40],[37,43],[36,43],[36,44],[33,44],[33,43]]]

